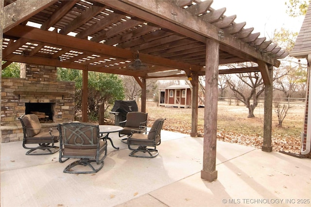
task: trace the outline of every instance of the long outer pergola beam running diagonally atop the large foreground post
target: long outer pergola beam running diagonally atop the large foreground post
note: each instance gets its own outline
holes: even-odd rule
[[[204,43],[206,40],[203,37],[214,39],[219,41],[221,45],[225,45],[243,53],[246,57],[249,57],[248,59],[250,60],[255,58],[276,67],[280,64],[278,60],[268,58],[261,54],[260,51],[255,50],[255,48],[236,39],[232,35],[224,33],[223,37],[220,38],[218,34],[219,31],[222,30],[201,20],[200,17],[194,16],[185,9],[174,6],[170,1],[161,1],[161,3],[158,3],[157,0],[126,0],[126,3],[113,0],[97,1],[103,2],[121,11],[126,10],[128,13],[136,15],[141,19],[151,21],[164,28],[170,28],[174,32],[182,33],[194,39],[197,39],[198,35],[201,35],[197,40],[201,39],[200,41]],[[195,24],[193,22],[195,22]],[[220,46],[220,49],[222,49],[222,46]]]

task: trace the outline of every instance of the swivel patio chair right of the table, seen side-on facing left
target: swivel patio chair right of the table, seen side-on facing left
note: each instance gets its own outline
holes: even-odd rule
[[[155,158],[159,154],[156,146],[161,143],[161,129],[164,120],[165,119],[163,118],[156,119],[150,131],[148,131],[148,134],[141,134],[138,133],[139,131],[137,130],[132,130],[131,135],[128,135],[127,137],[128,148],[133,150],[129,156],[138,158]],[[144,130],[141,132],[144,132]],[[135,149],[132,145],[138,145],[138,148]],[[147,153],[147,155],[145,153]]]

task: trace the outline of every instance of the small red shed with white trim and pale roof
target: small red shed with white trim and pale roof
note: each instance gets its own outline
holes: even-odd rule
[[[189,85],[172,85],[159,89],[159,106],[191,107],[192,91]]]

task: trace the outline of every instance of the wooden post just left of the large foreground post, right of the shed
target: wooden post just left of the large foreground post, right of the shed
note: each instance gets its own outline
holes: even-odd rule
[[[191,137],[198,135],[198,98],[199,98],[199,75],[192,74],[192,100],[191,100]],[[187,96],[186,96],[187,97]]]

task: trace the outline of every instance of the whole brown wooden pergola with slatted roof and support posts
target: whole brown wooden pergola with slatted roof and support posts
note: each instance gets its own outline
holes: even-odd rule
[[[212,0],[0,0],[2,69],[13,62],[83,70],[83,121],[87,117],[87,72],[146,80],[191,78],[191,136],[197,133],[198,77],[206,76],[204,163],[201,177],[217,178],[218,75],[260,72],[265,84],[263,151],[272,151],[272,73],[287,53],[215,10]],[[30,24],[30,22],[32,22]],[[34,24],[36,23],[36,24]],[[37,26],[35,26],[37,25]],[[2,35],[3,34],[3,35]],[[133,65],[139,59],[142,66]],[[258,66],[219,70],[219,65]],[[148,67],[146,67],[146,66]]]

